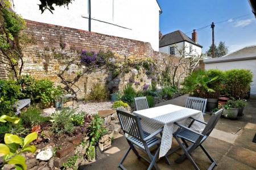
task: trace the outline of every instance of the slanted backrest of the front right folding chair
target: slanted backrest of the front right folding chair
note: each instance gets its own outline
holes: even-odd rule
[[[202,134],[209,136],[212,130],[215,128],[218,120],[221,117],[221,114],[223,112],[223,109],[218,110],[215,113],[212,113],[212,116],[210,116],[210,119],[208,121],[208,124],[205,126]]]

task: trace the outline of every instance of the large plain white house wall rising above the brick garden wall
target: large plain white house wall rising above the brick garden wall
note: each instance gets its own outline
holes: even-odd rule
[[[41,14],[39,0],[13,0],[13,2],[14,10],[24,19],[88,31],[88,0],[73,1],[69,9],[55,7],[53,14],[47,10]],[[156,0],[93,0],[91,31],[150,42],[152,48],[158,51],[159,10]]]

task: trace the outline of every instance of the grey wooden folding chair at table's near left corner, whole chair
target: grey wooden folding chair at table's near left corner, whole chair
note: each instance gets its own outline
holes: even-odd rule
[[[159,156],[161,140],[157,138],[156,135],[162,133],[163,128],[160,128],[156,130],[154,133],[149,134],[146,133],[146,131],[142,130],[141,121],[138,116],[118,109],[117,115],[121,124],[121,128],[125,133],[125,137],[130,146],[126,154],[121,159],[121,162],[119,163],[118,167],[121,169],[126,169],[123,166],[123,162],[125,161],[125,158],[129,154],[129,152],[133,150],[134,154],[137,155],[138,158],[142,158],[150,164],[147,169],[152,169],[153,166],[155,167],[155,169],[159,169],[158,165],[156,164],[156,160],[158,159]],[[152,148],[153,146],[157,146],[155,155],[152,155],[150,152],[150,148]],[[145,152],[150,160],[139,155],[136,148]],[[166,156],[165,158],[167,163],[170,164]]]

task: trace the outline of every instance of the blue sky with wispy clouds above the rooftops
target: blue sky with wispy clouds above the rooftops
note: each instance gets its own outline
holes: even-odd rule
[[[197,41],[204,46],[203,52],[205,52],[212,44],[210,24],[225,21],[215,24],[216,45],[220,41],[225,41],[229,53],[244,46],[256,45],[256,19],[247,0],[158,0],[158,2],[163,11],[160,14],[160,31],[163,35],[179,29],[191,37],[193,29],[209,25],[197,31]],[[242,17],[237,18],[238,16]]]

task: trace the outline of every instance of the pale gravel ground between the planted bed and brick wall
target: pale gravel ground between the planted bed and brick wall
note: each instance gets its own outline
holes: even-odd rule
[[[74,104],[74,108],[77,108],[77,113],[80,111],[84,111],[89,114],[96,114],[98,111],[102,110],[109,110],[112,109],[113,103],[111,101],[104,101],[104,102],[88,102],[85,103],[83,101],[76,102]],[[72,108],[72,105],[69,106]],[[47,108],[43,110],[44,116],[50,116],[52,113],[54,113],[56,110],[55,108]]]

